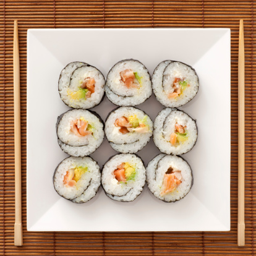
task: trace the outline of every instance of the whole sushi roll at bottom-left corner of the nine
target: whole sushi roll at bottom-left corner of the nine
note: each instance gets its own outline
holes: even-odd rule
[[[100,167],[88,156],[64,159],[53,174],[56,192],[73,203],[91,200],[100,187],[100,180]]]

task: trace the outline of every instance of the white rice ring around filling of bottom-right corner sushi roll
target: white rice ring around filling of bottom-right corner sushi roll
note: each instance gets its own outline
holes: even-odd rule
[[[160,195],[164,174],[168,171],[169,167],[173,168],[173,171],[181,171],[182,182],[173,192]],[[193,184],[192,170],[189,164],[181,157],[160,154],[148,163],[147,184],[148,189],[150,189],[155,197],[165,202],[175,202],[181,200],[189,193]]]

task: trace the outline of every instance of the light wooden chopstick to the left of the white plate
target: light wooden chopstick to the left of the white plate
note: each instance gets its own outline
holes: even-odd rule
[[[14,153],[15,153],[15,224],[14,245],[23,244],[22,237],[22,189],[20,146],[20,57],[18,22],[14,20]]]

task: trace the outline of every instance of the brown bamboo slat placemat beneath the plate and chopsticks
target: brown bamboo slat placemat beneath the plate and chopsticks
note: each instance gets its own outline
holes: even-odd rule
[[[256,2],[197,0],[0,1],[1,255],[254,255],[256,250]],[[14,246],[12,38],[19,21],[23,247]],[[237,247],[237,55],[245,31],[245,247]],[[26,231],[26,76],[28,28],[231,28],[231,231],[195,233],[31,233]],[[220,60],[221,61],[221,60]],[[218,74],[216,74],[218,75]],[[221,83],[221,80],[220,80]],[[219,103],[221,104],[221,103]],[[221,114],[221,113],[220,113]],[[221,131],[224,132],[224,131]],[[171,216],[170,216],[171,218]]]

